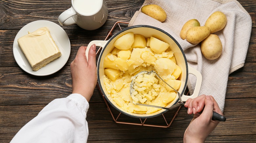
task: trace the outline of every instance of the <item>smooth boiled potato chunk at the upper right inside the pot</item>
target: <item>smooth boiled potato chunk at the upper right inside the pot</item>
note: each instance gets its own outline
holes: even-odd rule
[[[157,38],[150,37],[149,46],[152,51],[154,51],[155,53],[161,54],[162,52],[167,50],[170,45]]]

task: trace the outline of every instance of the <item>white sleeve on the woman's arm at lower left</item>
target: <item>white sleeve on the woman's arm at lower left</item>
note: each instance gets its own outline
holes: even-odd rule
[[[85,143],[89,103],[80,94],[55,99],[13,137],[11,143]]]

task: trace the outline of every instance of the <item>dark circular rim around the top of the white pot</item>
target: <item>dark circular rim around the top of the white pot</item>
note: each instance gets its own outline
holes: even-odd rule
[[[175,43],[178,45],[178,47],[180,48],[181,53],[182,53],[182,55],[183,55],[183,57],[184,57],[185,66],[186,66],[186,78],[185,78],[186,80],[185,80],[185,83],[184,83],[184,87],[183,87],[183,89],[182,89],[182,91],[181,91],[181,96],[183,95],[183,93],[184,93],[184,91],[185,91],[185,89],[186,89],[186,86],[187,86],[187,80],[188,80],[188,63],[187,63],[187,59],[186,59],[185,53],[184,53],[183,49],[181,48],[181,45],[178,43],[178,41],[177,41],[175,38],[173,38],[169,33],[165,32],[164,30],[162,30],[162,29],[160,29],[160,28],[157,28],[157,27],[154,27],[154,26],[150,26],[150,25],[134,25],[134,26],[130,26],[130,27],[124,28],[124,29],[118,31],[115,35],[113,35],[113,36],[108,40],[108,42],[106,43],[106,45],[105,45],[104,47],[102,47],[101,52],[100,52],[99,57],[98,57],[98,62],[97,62],[97,82],[98,82],[98,85],[99,85],[98,87],[100,88],[101,93],[103,94],[104,98],[105,98],[105,99],[108,101],[108,103],[110,103],[111,106],[113,106],[117,111],[119,111],[119,112],[121,112],[121,113],[123,113],[123,114],[125,114],[125,115],[127,115],[127,116],[129,116],[129,117],[146,119],[146,118],[157,117],[157,116],[159,116],[159,115],[164,114],[165,112],[167,112],[167,111],[169,111],[169,110],[164,110],[164,111],[162,111],[162,112],[160,112],[160,113],[158,113],[158,114],[154,114],[154,115],[147,114],[147,115],[149,115],[149,116],[139,116],[140,114],[137,114],[138,116],[134,116],[134,115],[128,114],[128,113],[126,113],[126,112],[123,112],[123,111],[121,111],[120,109],[118,109],[112,102],[110,102],[110,100],[108,99],[107,95],[104,93],[104,90],[103,90],[103,88],[102,88],[102,86],[101,86],[101,82],[100,82],[100,80],[99,80],[100,77],[99,77],[99,68],[98,68],[98,67],[99,67],[99,64],[100,64],[100,59],[102,58],[102,54],[103,54],[103,52],[104,52],[106,46],[109,44],[109,42],[110,42],[111,40],[113,40],[116,36],[118,36],[118,35],[121,34],[122,32],[124,32],[124,31],[126,31],[126,30],[129,30],[129,29],[132,29],[132,28],[138,28],[138,27],[147,27],[147,28],[153,28],[153,29],[159,30],[160,32],[166,34],[168,37],[170,37],[172,40],[174,40],[174,42],[175,42]],[[104,83],[103,83],[103,84],[104,84]],[[178,103],[178,102],[179,102],[179,98],[176,100],[175,103],[173,103],[173,105],[175,105],[175,104]],[[173,105],[172,105],[172,106],[173,106]],[[133,114],[135,114],[135,113],[133,113]]]

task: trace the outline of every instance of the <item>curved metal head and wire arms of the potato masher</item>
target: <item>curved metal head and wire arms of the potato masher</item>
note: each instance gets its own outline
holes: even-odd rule
[[[165,84],[167,84],[169,87],[171,87],[168,83],[166,83],[155,71],[141,71],[139,73],[137,73],[134,77],[133,77],[133,80],[131,82],[131,85],[130,85],[130,94],[132,96],[133,92],[135,91],[134,89],[134,83],[135,83],[135,79],[139,76],[139,75],[144,75],[144,74],[151,74],[151,73],[155,73],[157,75],[157,77],[162,80]],[[171,107],[161,107],[161,106],[155,106],[155,105],[149,105],[149,104],[141,104],[141,103],[136,103],[136,105],[142,105],[142,106],[148,106],[148,107],[155,107],[155,108],[161,108],[161,109],[166,109],[166,110],[171,110],[173,108],[176,108],[178,106],[181,106],[183,105],[184,103],[182,102],[181,100],[181,94],[176,90],[174,89],[173,87],[171,87],[174,91],[177,92],[178,96],[179,96],[179,100],[180,100],[180,103],[177,103]]]

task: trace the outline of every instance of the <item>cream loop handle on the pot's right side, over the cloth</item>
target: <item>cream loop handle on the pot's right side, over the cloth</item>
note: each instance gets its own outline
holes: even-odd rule
[[[196,86],[195,86],[195,90],[192,95],[190,95],[190,96],[182,95],[181,96],[182,102],[187,101],[189,98],[193,99],[193,98],[198,97],[198,94],[199,94],[199,91],[200,91],[200,88],[202,85],[202,74],[199,71],[197,71],[196,69],[194,69],[188,65],[188,74],[193,74],[196,76],[196,78],[197,78]]]

